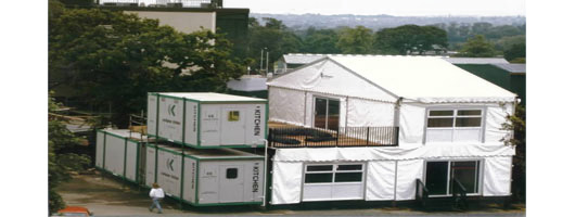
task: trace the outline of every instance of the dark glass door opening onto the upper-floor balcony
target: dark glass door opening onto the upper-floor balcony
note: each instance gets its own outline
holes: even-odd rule
[[[340,100],[315,98],[314,127],[337,130],[340,127]]]

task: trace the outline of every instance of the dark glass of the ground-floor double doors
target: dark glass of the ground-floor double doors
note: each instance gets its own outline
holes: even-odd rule
[[[480,161],[427,162],[425,187],[430,195],[450,195],[453,179],[459,180],[468,193],[480,192]]]

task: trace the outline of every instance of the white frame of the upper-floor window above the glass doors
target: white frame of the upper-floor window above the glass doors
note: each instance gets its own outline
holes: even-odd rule
[[[431,112],[434,112],[434,111],[452,111],[453,114],[451,116],[430,116],[430,113]],[[458,115],[458,111],[481,111],[481,114],[480,115]],[[460,130],[460,129],[478,129],[480,130],[480,142],[485,142],[485,117],[486,117],[486,114],[485,114],[485,111],[486,108],[485,107],[430,107],[425,111],[425,122],[423,124],[423,143],[427,143],[430,141],[427,141],[427,130],[446,130],[446,129],[451,129],[451,140],[448,141],[448,142],[459,142],[455,139],[456,137],[456,131],[457,130]],[[450,117],[452,118],[452,123],[451,123],[451,127],[427,127],[427,123],[430,120],[430,118],[446,118],[446,117]],[[457,124],[457,118],[458,117],[480,117],[481,120],[480,120],[480,126],[478,127],[457,127],[456,124]],[[433,143],[433,142],[431,142]]]

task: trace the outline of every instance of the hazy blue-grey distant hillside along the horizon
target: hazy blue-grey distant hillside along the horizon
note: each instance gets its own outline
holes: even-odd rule
[[[396,27],[406,24],[433,25],[439,23],[490,23],[494,26],[500,25],[523,25],[525,16],[391,16],[391,15],[320,15],[320,14],[260,14],[251,13],[251,17],[261,20],[263,17],[273,17],[280,20],[290,28],[304,29],[309,26],[317,28],[334,28],[338,26],[362,25],[371,29]]]

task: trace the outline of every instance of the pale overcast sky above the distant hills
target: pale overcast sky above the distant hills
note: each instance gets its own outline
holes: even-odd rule
[[[223,0],[223,7],[251,13],[525,15],[525,0]]]

